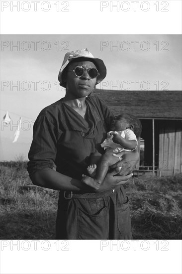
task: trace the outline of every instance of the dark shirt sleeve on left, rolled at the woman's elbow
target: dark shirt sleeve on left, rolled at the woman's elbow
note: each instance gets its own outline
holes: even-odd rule
[[[46,115],[37,117],[33,126],[33,141],[28,153],[27,171],[30,178],[38,170],[53,168],[57,153],[56,128]]]

